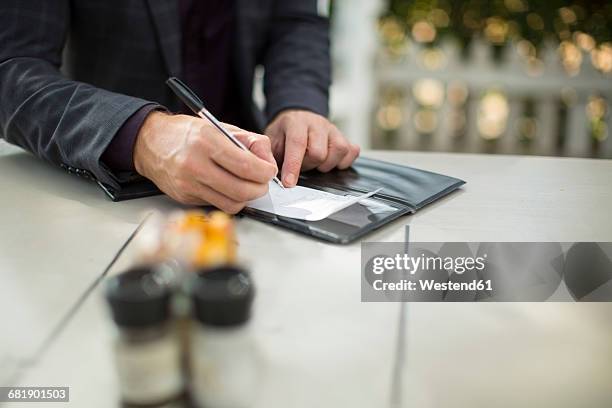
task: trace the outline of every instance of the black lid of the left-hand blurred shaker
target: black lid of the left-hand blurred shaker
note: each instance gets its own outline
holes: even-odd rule
[[[149,266],[130,269],[109,279],[106,299],[118,326],[142,328],[170,317],[171,284]]]

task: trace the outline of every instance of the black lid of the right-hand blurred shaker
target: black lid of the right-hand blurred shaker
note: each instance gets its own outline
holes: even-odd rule
[[[200,271],[189,282],[193,313],[202,324],[237,326],[249,320],[255,287],[236,266]]]

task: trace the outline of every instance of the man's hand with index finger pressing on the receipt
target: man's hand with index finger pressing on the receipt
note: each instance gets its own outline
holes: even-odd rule
[[[359,146],[350,143],[330,121],[303,110],[281,112],[266,128],[272,151],[282,163],[281,180],[296,185],[300,170],[345,169],[359,156]]]

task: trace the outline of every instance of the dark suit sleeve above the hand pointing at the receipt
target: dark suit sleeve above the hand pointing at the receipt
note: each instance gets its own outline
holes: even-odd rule
[[[329,113],[329,20],[318,14],[317,3],[274,2],[264,57],[268,121],[285,109]]]

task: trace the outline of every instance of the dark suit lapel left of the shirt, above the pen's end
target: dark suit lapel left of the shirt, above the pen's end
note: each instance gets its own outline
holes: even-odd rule
[[[177,0],[147,0],[168,74],[181,74],[181,23]]]

